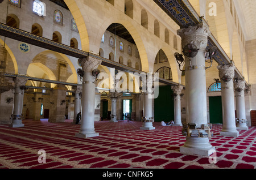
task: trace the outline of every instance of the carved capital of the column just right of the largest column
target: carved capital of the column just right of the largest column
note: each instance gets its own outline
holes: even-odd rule
[[[234,78],[234,69],[236,66],[233,64],[230,65],[220,65],[217,66],[218,68],[218,75],[220,76],[221,80],[224,80],[224,82],[229,82],[231,79]]]

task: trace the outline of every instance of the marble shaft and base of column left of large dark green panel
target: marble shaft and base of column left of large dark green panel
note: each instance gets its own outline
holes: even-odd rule
[[[146,93],[144,95],[144,119],[142,119],[143,124],[142,127],[140,127],[141,130],[155,130],[155,127],[153,126],[154,118],[152,113],[152,104],[152,95]]]

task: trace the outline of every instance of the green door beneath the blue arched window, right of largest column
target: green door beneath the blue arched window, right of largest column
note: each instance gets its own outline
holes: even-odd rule
[[[210,123],[222,124],[221,96],[209,97]]]

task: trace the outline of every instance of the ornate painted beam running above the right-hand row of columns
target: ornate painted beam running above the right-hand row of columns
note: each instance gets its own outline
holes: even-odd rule
[[[164,12],[174,22],[176,22],[180,28],[187,28],[191,25],[196,25],[200,22],[204,22],[207,24],[207,22],[197,14],[195,9],[191,6],[191,4],[188,2],[188,0],[154,0],[154,2],[162,8]],[[225,53],[225,51],[221,48],[220,44],[217,42],[216,38],[211,34],[208,37],[208,46],[207,49],[209,49],[212,46],[217,47],[217,52],[214,54],[214,60],[219,65],[228,65],[230,64],[230,59],[228,55]],[[241,73],[236,70],[236,76],[241,77]]]

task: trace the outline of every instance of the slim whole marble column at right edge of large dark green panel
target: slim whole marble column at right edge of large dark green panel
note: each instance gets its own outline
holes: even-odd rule
[[[172,87],[174,91],[174,125],[172,126],[182,126],[181,123],[181,92],[183,87],[181,85],[176,85]]]

